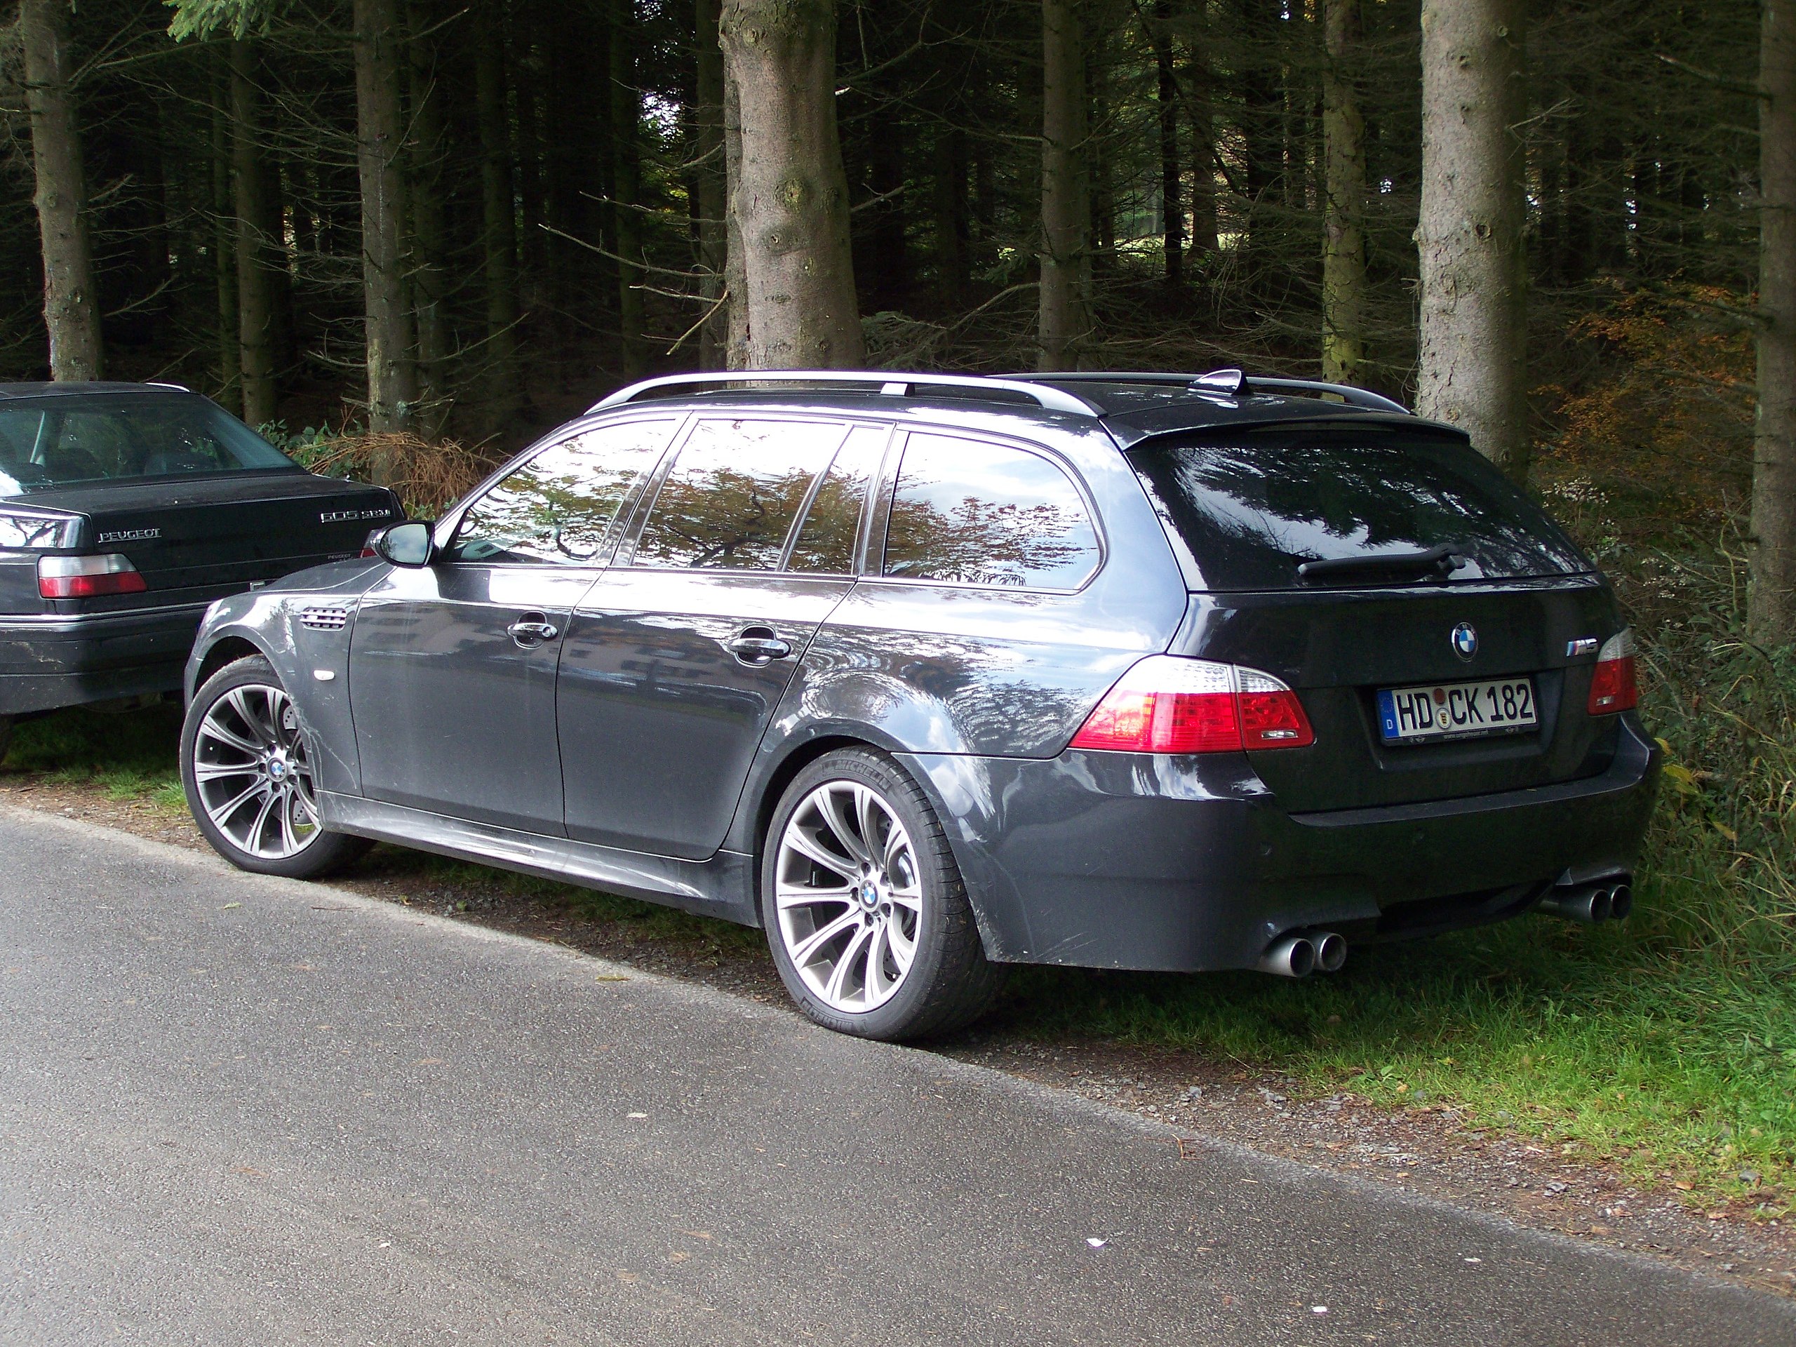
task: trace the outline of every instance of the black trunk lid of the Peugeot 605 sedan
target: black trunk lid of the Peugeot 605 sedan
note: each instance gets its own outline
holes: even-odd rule
[[[79,600],[77,611],[212,600],[361,550],[399,517],[381,487],[298,469],[38,490],[32,506],[86,517],[81,550],[122,553],[147,593]]]

